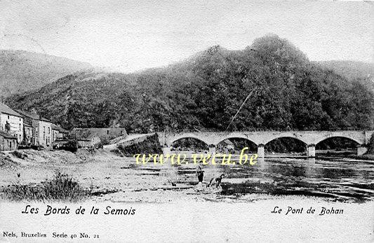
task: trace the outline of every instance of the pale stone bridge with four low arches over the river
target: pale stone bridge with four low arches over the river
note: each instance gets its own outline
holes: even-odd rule
[[[316,144],[332,137],[345,137],[356,141],[357,154],[366,153],[371,135],[374,131],[290,131],[290,132],[157,132],[159,142],[163,146],[163,153],[170,153],[173,142],[179,139],[194,138],[203,141],[209,146],[209,153],[215,153],[215,148],[226,139],[241,138],[252,141],[258,146],[258,156],[265,156],[265,144],[274,139],[290,137],[298,139],[307,146],[307,156],[315,157]]]

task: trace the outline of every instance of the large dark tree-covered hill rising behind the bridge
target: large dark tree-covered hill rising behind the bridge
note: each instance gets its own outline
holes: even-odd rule
[[[81,72],[10,99],[71,127],[124,126],[129,132],[372,129],[373,93],[356,79],[309,62],[278,36],[244,50],[213,46],[136,74]]]

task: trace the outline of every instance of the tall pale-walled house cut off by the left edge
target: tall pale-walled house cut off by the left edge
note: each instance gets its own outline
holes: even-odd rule
[[[20,113],[0,103],[0,131],[11,134],[20,144],[23,141],[23,118]]]

